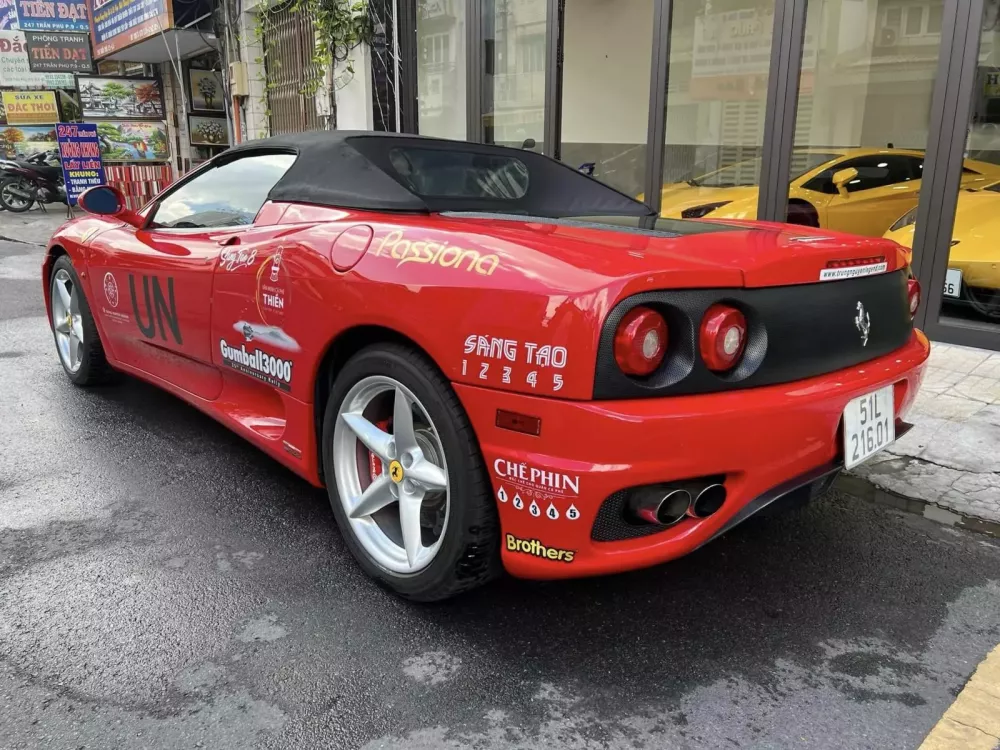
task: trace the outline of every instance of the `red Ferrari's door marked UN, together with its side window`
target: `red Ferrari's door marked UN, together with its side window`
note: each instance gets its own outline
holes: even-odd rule
[[[254,230],[291,154],[216,160],[159,198],[146,224],[95,243],[97,314],[114,357],[206,399],[219,395],[212,295],[220,256]]]

